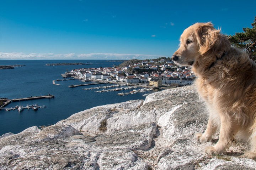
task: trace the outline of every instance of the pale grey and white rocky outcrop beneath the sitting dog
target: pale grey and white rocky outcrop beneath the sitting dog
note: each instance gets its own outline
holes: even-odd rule
[[[193,87],[94,107],[43,129],[0,137],[0,169],[256,169],[234,143],[226,155],[203,152],[195,132],[207,125]],[[215,140],[207,145],[214,145]]]

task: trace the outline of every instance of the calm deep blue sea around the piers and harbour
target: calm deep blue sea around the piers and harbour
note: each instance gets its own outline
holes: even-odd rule
[[[92,65],[82,66],[45,66],[47,63],[93,63]],[[96,93],[97,90],[82,90],[84,88],[104,86],[89,85],[75,88],[68,87],[71,84],[85,84],[81,80],[56,81],[60,84],[53,85],[52,80],[63,79],[60,74],[66,70],[78,68],[99,68],[112,67],[113,64],[119,65],[122,62],[108,62],[105,60],[0,60],[0,65],[26,65],[15,69],[0,70],[0,97],[19,98],[30,96],[54,95],[55,98],[38,99],[30,101],[12,102],[7,107],[15,107],[37,103],[39,106],[45,105],[46,108],[39,108],[37,111],[24,109],[22,112],[5,109],[0,110],[0,136],[7,132],[17,134],[31,126],[42,126],[55,124],[62,119],[70,117],[74,113],[84,111],[95,106],[105,104],[125,102],[129,100],[144,99],[143,93],[119,96],[122,91],[107,93]],[[91,82],[86,82],[91,83]],[[128,92],[129,90],[123,90]],[[150,91],[155,92],[154,91]],[[149,93],[149,92],[146,92]]]

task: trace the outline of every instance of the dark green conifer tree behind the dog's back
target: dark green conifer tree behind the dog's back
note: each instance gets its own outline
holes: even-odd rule
[[[243,28],[244,32],[229,35],[229,41],[233,46],[245,50],[253,61],[256,61],[256,16],[252,28]]]

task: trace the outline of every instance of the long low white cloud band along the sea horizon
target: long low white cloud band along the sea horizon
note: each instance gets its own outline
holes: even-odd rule
[[[2,53],[0,60],[131,60],[131,59],[153,59],[162,57],[160,55],[145,54],[118,54],[118,53],[90,53],[90,54],[53,54],[53,53]]]

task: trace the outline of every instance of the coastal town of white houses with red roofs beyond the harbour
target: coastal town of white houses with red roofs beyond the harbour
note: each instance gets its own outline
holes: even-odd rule
[[[123,65],[123,64],[121,64]],[[146,84],[155,87],[181,87],[191,85],[196,76],[191,67],[176,66],[168,58],[159,61],[139,61],[128,66],[80,68],[63,74],[83,80],[105,80],[112,83]]]

